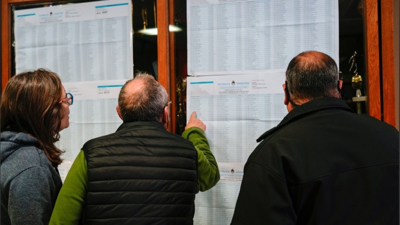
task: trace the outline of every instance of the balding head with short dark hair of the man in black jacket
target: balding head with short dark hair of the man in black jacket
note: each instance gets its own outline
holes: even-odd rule
[[[286,69],[287,88],[292,99],[337,97],[338,79],[336,62],[319,51],[299,53]]]

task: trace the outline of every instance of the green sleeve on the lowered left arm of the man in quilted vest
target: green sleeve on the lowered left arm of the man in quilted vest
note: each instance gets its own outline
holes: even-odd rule
[[[73,161],[58,193],[49,224],[78,224],[85,204],[87,163],[83,150]]]

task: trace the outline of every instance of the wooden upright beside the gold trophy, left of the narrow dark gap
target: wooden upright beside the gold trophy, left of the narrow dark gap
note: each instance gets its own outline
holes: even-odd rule
[[[364,0],[366,110],[381,120],[377,6],[376,0]]]

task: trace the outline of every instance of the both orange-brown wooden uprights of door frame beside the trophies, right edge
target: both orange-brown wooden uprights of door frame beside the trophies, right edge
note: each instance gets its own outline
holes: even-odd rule
[[[396,126],[393,2],[363,0],[363,4],[367,113]]]

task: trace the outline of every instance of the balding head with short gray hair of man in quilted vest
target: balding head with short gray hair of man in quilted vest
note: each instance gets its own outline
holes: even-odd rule
[[[161,121],[168,102],[165,88],[145,72],[136,72],[126,81],[118,96],[118,107],[123,122]]]

